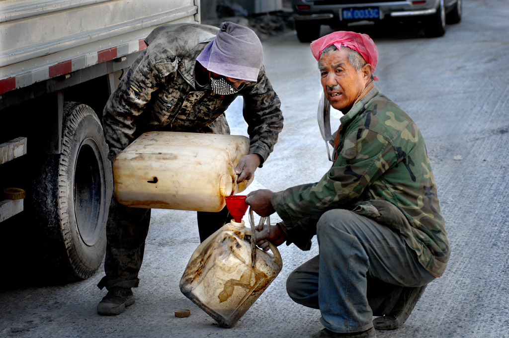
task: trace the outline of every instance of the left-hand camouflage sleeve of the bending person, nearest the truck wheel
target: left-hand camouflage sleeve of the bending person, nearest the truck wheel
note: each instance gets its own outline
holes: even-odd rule
[[[146,49],[134,61],[104,107],[103,126],[111,161],[133,142],[136,120],[162,81],[160,69],[147,55]]]

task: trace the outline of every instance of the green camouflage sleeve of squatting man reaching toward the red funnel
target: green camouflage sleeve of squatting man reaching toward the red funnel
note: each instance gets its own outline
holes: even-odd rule
[[[369,129],[346,135],[345,145],[320,181],[272,194],[271,203],[291,229],[302,218],[348,208],[397,160],[391,144]]]

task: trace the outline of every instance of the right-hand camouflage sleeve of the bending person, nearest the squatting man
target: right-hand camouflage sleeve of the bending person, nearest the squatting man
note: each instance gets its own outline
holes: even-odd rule
[[[244,98],[243,116],[251,141],[249,152],[262,157],[262,166],[274,149],[283,127],[281,103],[272,89],[263,65],[256,85],[248,86],[241,94]]]

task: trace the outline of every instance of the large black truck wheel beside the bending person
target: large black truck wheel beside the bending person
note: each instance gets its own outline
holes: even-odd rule
[[[94,110],[65,102],[61,154],[45,158],[33,189],[34,218],[59,279],[86,279],[104,258],[113,188],[107,154]]]

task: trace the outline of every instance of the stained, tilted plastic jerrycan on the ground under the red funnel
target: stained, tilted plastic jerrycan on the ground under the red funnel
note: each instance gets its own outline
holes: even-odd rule
[[[256,248],[251,267],[251,230],[232,220],[196,248],[180,280],[180,290],[223,327],[232,327],[267,289],[282,268],[272,255]]]

